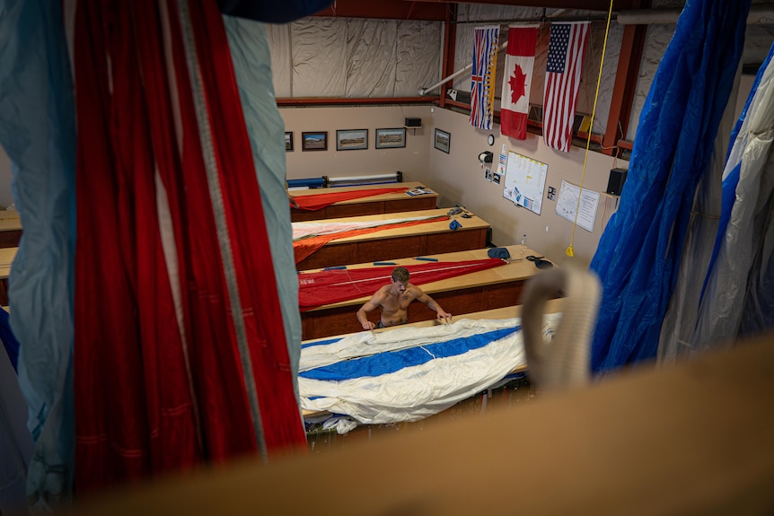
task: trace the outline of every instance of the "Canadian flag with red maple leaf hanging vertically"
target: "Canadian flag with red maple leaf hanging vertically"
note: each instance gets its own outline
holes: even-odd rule
[[[506,69],[500,101],[500,132],[518,140],[527,138],[532,66],[539,25],[511,25],[508,28]]]

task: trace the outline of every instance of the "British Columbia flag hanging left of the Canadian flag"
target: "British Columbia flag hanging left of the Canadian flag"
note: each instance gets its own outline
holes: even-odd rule
[[[495,113],[495,70],[497,68],[497,25],[476,28],[471,72],[471,126],[491,129]]]

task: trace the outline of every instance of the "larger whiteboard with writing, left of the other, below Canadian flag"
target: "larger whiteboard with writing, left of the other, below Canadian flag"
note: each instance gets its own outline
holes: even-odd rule
[[[549,166],[513,151],[508,153],[503,197],[515,205],[541,214],[543,190]]]

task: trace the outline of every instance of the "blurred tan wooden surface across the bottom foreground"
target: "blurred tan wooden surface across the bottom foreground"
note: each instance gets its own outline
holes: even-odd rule
[[[335,453],[84,496],[75,514],[771,514],[772,363],[769,333]]]

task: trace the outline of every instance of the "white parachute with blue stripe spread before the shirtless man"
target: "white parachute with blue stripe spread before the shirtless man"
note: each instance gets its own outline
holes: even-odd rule
[[[545,339],[560,319],[561,314],[546,316]],[[350,415],[362,424],[434,415],[526,363],[520,323],[461,319],[305,346],[298,380],[302,407]]]

